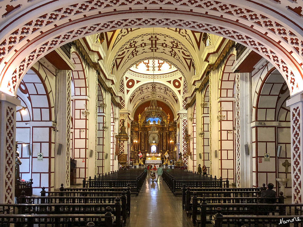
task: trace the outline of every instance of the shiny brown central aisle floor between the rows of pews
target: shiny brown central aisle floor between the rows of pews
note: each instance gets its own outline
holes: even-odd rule
[[[182,197],[175,197],[161,178],[151,182],[149,176],[139,196],[131,198],[128,227],[182,227],[193,226],[182,211]]]

